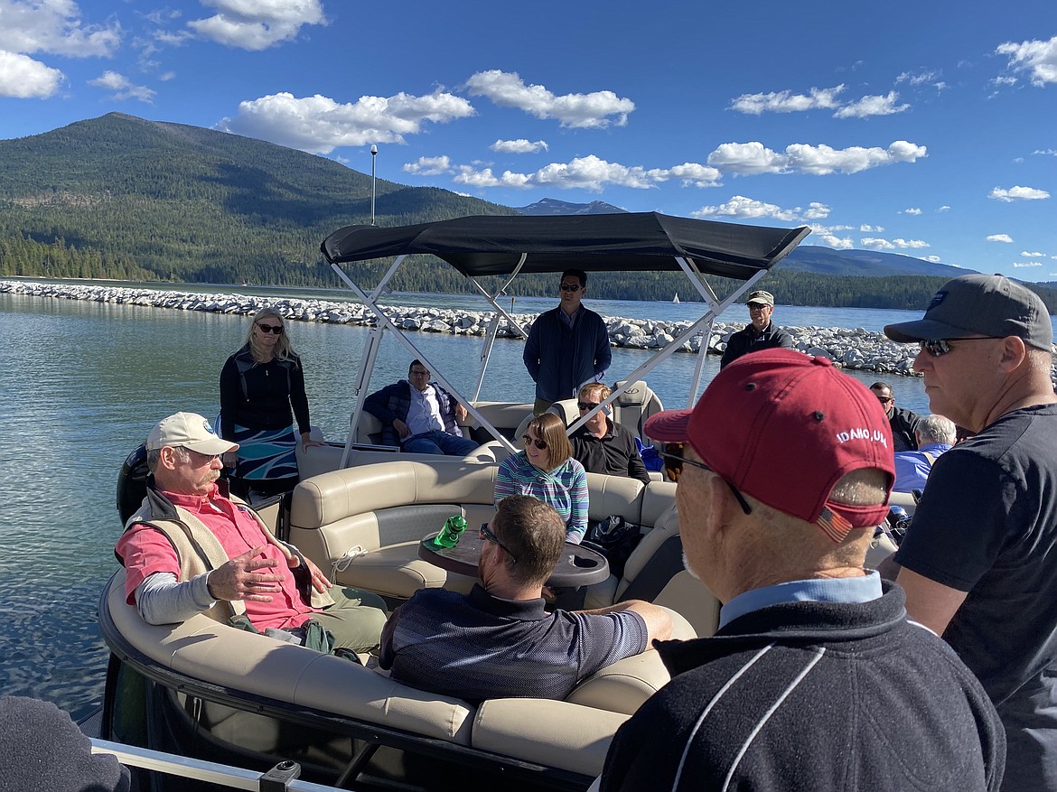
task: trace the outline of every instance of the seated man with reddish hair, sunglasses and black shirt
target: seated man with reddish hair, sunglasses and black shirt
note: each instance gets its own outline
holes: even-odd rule
[[[601,382],[588,382],[579,393],[580,415],[594,410],[610,393]],[[635,436],[627,427],[613,422],[610,412],[609,407],[599,410],[569,436],[573,458],[589,473],[627,476],[649,484],[650,474],[635,446]]]

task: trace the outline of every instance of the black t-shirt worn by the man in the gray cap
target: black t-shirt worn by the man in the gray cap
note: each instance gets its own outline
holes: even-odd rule
[[[937,459],[895,561],[968,592],[944,638],[1002,715],[1006,786],[1057,789],[1057,406],[1015,410]],[[1018,769],[1032,786],[1008,785]]]

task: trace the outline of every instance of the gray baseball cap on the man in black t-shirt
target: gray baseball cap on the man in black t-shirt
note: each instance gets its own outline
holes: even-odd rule
[[[963,275],[940,287],[923,319],[888,324],[885,335],[900,343],[1017,336],[1050,352],[1054,331],[1042,298],[1026,286],[1001,275]]]

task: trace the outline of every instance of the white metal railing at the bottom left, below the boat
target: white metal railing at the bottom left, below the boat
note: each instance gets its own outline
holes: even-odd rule
[[[298,780],[297,775],[301,769],[296,761],[283,761],[266,773],[260,773],[230,765],[220,765],[215,761],[152,751],[149,748],[111,742],[96,737],[92,738],[92,753],[113,754],[126,767],[142,768],[229,789],[261,790],[262,792],[278,792],[278,790],[338,792],[337,787]]]

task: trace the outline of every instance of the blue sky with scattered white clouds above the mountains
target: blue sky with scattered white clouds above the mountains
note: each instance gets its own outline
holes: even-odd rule
[[[1054,0],[0,0],[0,138],[112,111],[1057,280]]]

